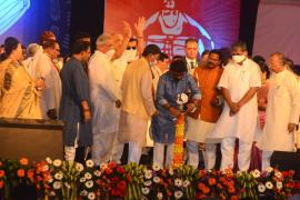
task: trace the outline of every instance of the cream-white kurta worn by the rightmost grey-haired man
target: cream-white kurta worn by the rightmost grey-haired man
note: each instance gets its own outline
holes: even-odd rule
[[[293,73],[276,73],[269,81],[266,124],[258,147],[263,151],[293,151],[294,134],[288,124],[299,122],[300,89]]]

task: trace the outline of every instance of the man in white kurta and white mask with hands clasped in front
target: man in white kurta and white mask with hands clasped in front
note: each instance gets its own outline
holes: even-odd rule
[[[214,130],[207,139],[221,139],[221,170],[233,168],[236,139],[239,139],[239,170],[247,171],[254,133],[259,130],[257,90],[261,86],[260,69],[247,58],[244,42],[232,44],[232,61],[224,67],[218,87],[226,103]]]

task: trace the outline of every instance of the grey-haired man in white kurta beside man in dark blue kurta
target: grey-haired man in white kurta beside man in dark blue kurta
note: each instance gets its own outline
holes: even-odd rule
[[[101,164],[109,160],[119,127],[120,92],[111,73],[113,40],[109,34],[97,39],[97,50],[89,62],[92,117],[92,160]]]

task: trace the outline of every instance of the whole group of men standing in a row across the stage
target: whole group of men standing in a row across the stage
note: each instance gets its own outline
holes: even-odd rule
[[[241,171],[249,169],[253,141],[262,150],[262,169],[270,166],[273,151],[294,150],[300,88],[296,76],[284,68],[282,53],[270,56],[272,76],[261,131],[257,100],[261,71],[248,58],[244,42],[232,44],[232,59],[223,64],[218,50],[209,51],[207,60],[199,61],[198,40],[188,39],[186,56],[169,62],[158,46],[143,48],[143,22],[139,19],[134,24],[137,39],[131,38],[128,23],[123,34],[101,34],[91,57],[90,41],[76,40],[60,73],[54,62],[59,44],[49,32],[41,41],[42,48],[28,60],[28,73],[42,82],[37,88],[42,91],[42,118],[64,122],[66,160],[74,160],[77,149],[82,147],[87,152],[91,149],[96,164],[120,162],[123,144],[129,143],[128,162],[139,163],[149,132],[153,163],[170,167],[176,122],[181,114],[186,116],[188,164],[194,168],[201,143],[206,169],[214,168],[217,143],[221,143],[221,170],[233,168],[237,139]],[[188,99],[181,106],[183,96]]]

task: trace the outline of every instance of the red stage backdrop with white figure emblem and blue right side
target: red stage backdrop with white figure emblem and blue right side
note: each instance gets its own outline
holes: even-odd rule
[[[122,20],[133,29],[146,17],[147,44],[156,43],[170,56],[184,54],[184,40],[199,40],[204,49],[230,47],[239,36],[239,0],[107,0],[104,32],[120,32]]]

